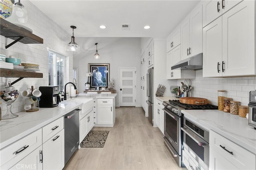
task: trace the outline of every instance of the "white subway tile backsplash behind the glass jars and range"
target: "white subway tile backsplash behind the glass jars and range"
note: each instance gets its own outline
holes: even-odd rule
[[[248,105],[249,92],[256,89],[256,76],[240,77],[202,77],[202,70],[196,70],[196,78],[192,80],[192,97],[206,98],[210,104],[218,106],[218,90],[226,90],[228,97]],[[177,85],[181,86],[177,80]]]

